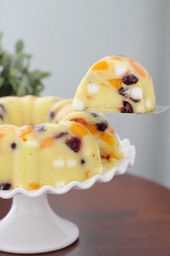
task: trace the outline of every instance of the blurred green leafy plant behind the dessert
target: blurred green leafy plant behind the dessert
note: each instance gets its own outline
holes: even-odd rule
[[[42,80],[50,76],[49,72],[39,69],[30,70],[32,55],[24,52],[24,42],[18,40],[14,54],[4,50],[0,33],[0,97],[6,95],[40,95],[44,85]]]

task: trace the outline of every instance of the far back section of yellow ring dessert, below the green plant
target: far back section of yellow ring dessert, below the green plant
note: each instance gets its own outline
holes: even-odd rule
[[[61,98],[56,96],[35,97],[1,97],[0,124],[13,124],[18,127],[23,124],[41,124],[48,121],[48,113],[54,103]]]

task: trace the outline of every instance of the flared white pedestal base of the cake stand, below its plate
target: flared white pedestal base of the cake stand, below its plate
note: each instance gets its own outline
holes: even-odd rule
[[[12,208],[0,221],[0,250],[13,253],[51,252],[79,237],[74,223],[57,216],[47,195],[15,195]]]

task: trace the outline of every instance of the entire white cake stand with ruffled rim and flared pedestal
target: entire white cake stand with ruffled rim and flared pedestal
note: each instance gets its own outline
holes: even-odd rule
[[[13,201],[9,213],[0,221],[0,250],[22,254],[51,252],[75,242],[79,237],[78,227],[53,212],[47,194],[61,195],[72,188],[89,189],[95,182],[109,182],[115,174],[124,174],[128,166],[133,166],[135,147],[128,139],[120,143],[125,154],[120,166],[85,182],[70,182],[57,189],[45,186],[31,192],[22,188],[1,190],[0,197],[13,197]]]

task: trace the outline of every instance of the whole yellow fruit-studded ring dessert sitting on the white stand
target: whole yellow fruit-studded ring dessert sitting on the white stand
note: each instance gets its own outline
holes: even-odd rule
[[[73,112],[72,100],[0,98],[0,121],[0,189],[81,182],[122,158],[104,116]]]

